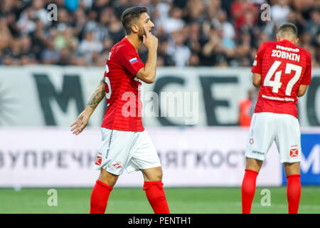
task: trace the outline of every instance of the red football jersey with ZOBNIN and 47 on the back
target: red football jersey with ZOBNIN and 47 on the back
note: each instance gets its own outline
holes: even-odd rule
[[[311,81],[311,56],[287,40],[262,43],[252,66],[261,74],[255,113],[284,113],[298,118],[299,86]]]

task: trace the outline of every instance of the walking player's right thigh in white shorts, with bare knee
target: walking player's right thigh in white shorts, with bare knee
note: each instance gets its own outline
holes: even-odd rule
[[[149,137],[149,134],[144,130],[140,133],[137,142],[134,147],[132,147],[134,153],[127,167],[127,172],[132,172],[134,170],[149,170],[151,168],[161,167],[161,162],[159,160],[156,148]],[[159,177],[162,176],[161,168],[151,170],[149,177]]]

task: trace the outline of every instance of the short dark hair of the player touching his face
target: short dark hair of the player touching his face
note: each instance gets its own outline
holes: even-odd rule
[[[148,9],[146,9],[146,7],[132,6],[122,12],[121,21],[127,35],[131,34],[131,26],[134,24],[134,21],[139,19],[139,16],[147,11]]]

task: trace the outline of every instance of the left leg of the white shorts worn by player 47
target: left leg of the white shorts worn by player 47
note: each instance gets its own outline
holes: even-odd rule
[[[245,157],[265,160],[275,139],[274,113],[254,113],[247,137]]]

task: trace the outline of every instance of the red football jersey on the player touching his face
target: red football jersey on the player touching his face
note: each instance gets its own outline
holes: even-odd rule
[[[142,82],[136,78],[142,67],[144,63],[127,38],[112,47],[105,67],[107,110],[102,128],[135,132],[144,130],[140,100]]]

